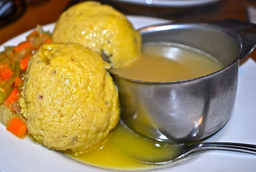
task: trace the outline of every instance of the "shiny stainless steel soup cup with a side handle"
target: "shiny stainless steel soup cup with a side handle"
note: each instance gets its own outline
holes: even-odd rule
[[[167,23],[142,28],[140,33],[143,43],[188,45],[216,57],[225,67],[172,82],[136,81],[112,73],[122,121],[130,129],[163,142],[200,140],[221,129],[232,115],[239,59],[255,47],[256,25],[235,19]]]

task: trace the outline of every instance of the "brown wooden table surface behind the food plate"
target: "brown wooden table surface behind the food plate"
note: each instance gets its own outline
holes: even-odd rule
[[[26,0],[30,2],[33,0]],[[36,0],[34,0],[36,1]],[[43,0],[38,0],[43,1]],[[35,28],[37,24],[44,25],[56,22],[60,14],[68,6],[82,0],[45,0],[41,3],[26,3],[26,9],[15,21],[0,27],[0,45],[10,38],[27,30]],[[220,0],[214,4],[193,8],[156,8],[152,6],[136,6],[124,4],[113,0],[98,0],[110,4],[117,10],[127,15],[154,16],[174,21],[214,21],[226,18],[238,18],[248,20],[246,7],[256,7],[256,0]],[[250,55],[256,60],[256,53]]]

